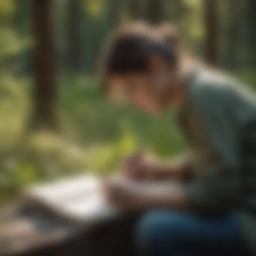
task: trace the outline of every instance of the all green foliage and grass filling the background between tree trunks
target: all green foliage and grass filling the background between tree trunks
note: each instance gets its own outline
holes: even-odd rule
[[[127,106],[117,107],[103,98],[94,75],[82,74],[72,79],[63,75],[69,58],[69,0],[56,1],[54,6],[62,74],[58,80],[59,119],[63,130],[60,134],[31,134],[28,122],[33,86],[31,2],[0,0],[0,201],[42,180],[87,170],[107,175],[118,169],[122,159],[134,150],[166,158],[185,148],[174,111],[151,117]],[[146,6],[146,1],[142,2]],[[203,1],[160,2],[164,5],[163,20],[178,23],[188,47],[202,53]],[[248,37],[247,1],[240,1],[235,10],[238,15],[229,13],[231,2],[219,3],[220,61],[222,65],[241,69],[245,67],[247,55],[254,53],[244,42]],[[89,73],[95,69],[106,35],[118,21],[129,19],[128,0],[81,0],[80,4],[81,70]],[[142,11],[143,17],[147,16],[145,12]],[[234,22],[239,26],[233,36],[239,40],[233,40],[228,33],[229,25]],[[235,48],[229,56],[232,42]],[[233,60],[239,63],[230,63]],[[236,75],[256,86],[255,71],[248,70],[237,71]],[[19,74],[30,79],[18,77]]]

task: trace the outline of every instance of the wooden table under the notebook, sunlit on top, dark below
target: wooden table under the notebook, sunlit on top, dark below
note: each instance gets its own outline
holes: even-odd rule
[[[132,256],[138,215],[82,226],[18,205],[5,209],[0,250],[5,256]]]

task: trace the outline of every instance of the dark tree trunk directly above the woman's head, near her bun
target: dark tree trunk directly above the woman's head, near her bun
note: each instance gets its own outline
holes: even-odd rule
[[[147,20],[157,24],[164,19],[164,3],[162,0],[147,1]]]

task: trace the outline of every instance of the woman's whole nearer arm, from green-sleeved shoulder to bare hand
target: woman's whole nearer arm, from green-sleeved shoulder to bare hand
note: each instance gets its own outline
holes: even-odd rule
[[[153,190],[147,194],[121,192],[116,202],[133,209],[170,207],[212,214],[238,204],[241,196],[238,129],[233,123],[235,110],[232,112],[230,105],[226,105],[232,97],[225,88],[223,93],[220,88],[200,88],[193,95],[199,121],[212,147],[211,150],[206,149],[209,152],[201,151],[209,158],[204,159],[201,169],[196,170],[197,176],[193,181],[185,185],[169,184],[158,193]],[[118,193],[115,194],[117,196]]]

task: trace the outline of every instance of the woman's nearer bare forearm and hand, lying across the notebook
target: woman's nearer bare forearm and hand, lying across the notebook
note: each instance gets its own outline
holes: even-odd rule
[[[105,183],[105,197],[108,203],[128,211],[140,211],[166,207],[187,210],[189,202],[185,187],[181,183],[165,184],[121,184]]]

